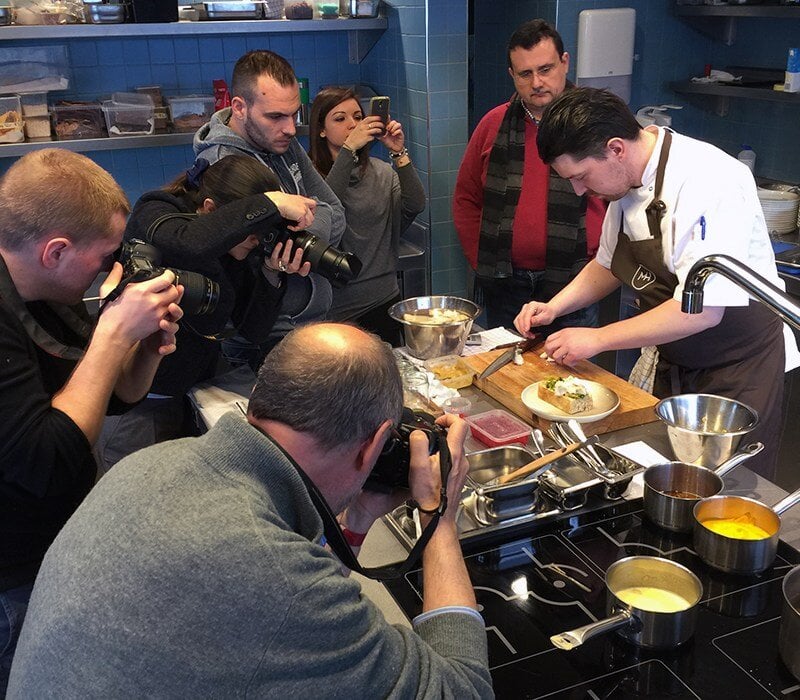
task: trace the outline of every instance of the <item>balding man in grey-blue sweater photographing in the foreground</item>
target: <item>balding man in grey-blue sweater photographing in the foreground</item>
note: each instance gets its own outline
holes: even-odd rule
[[[391,351],[355,326],[293,331],[267,356],[247,420],[126,457],[50,548],[9,698],[492,697],[456,505],[466,424],[448,427],[444,516],[423,553],[423,613],[389,625],[325,548],[313,482],[354,546],[387,506],[362,491],[402,408]],[[423,525],[438,456],[410,440]]]

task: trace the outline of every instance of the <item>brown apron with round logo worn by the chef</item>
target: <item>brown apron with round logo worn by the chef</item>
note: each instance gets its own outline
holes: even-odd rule
[[[645,210],[650,238],[628,238],[621,218],[611,259],[611,272],[636,291],[642,311],[671,299],[678,285],[678,278],[664,264],[661,238],[661,221],[667,211],[661,189],[671,143],[672,134],[665,131],[653,200]],[[745,440],[760,440],[765,449],[747,466],[768,478],[773,476],[780,447],[785,363],[780,319],[755,301],[749,306],[728,307],[718,325],[659,345],[658,352],[653,393],[659,398],[718,394],[758,412],[759,424]]]

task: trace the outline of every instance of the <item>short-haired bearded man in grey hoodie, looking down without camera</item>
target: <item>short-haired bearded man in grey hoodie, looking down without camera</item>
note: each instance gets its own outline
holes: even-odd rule
[[[284,192],[317,200],[308,232],[337,245],[345,229],[344,208],[295,138],[300,90],[291,65],[272,51],[250,51],[234,66],[231,92],[231,106],[195,134],[197,158],[209,163],[233,154],[257,158],[275,171]],[[299,323],[324,319],[333,300],[330,282],[314,272],[291,275],[285,284],[267,350]]]

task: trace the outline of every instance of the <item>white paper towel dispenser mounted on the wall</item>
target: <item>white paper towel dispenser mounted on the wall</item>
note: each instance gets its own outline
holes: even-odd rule
[[[610,90],[630,102],[635,31],[632,7],[579,13],[576,83]]]

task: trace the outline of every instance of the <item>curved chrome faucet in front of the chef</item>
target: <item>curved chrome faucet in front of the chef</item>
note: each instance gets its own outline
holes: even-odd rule
[[[692,265],[683,286],[683,313],[699,314],[703,310],[703,285],[713,272],[747,290],[784,321],[800,329],[800,305],[772,282],[728,255],[707,255]]]

